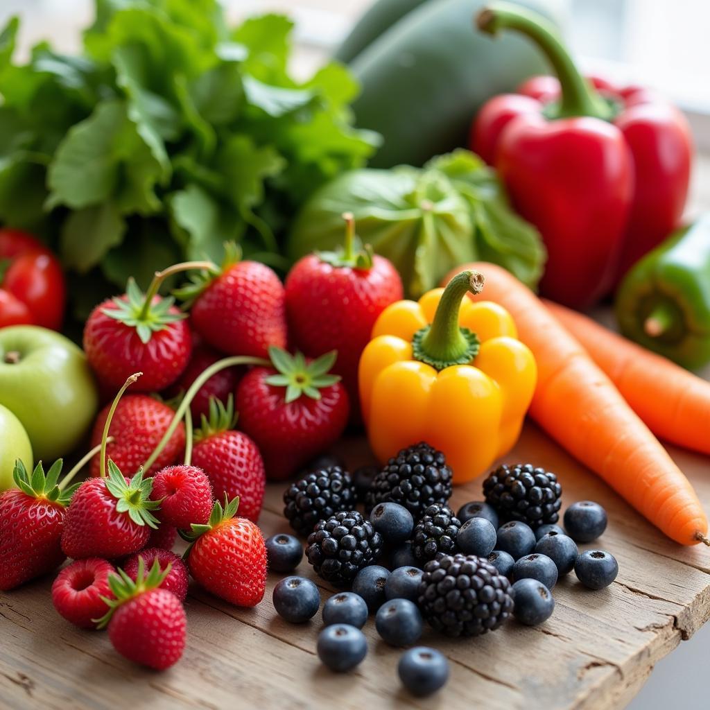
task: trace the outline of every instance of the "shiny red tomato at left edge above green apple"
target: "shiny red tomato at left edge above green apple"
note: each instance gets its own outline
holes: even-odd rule
[[[57,258],[17,229],[0,229],[0,327],[34,324],[60,329],[66,285]]]

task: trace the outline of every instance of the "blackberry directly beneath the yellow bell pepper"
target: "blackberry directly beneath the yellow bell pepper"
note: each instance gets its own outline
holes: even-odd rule
[[[429,444],[402,449],[373,479],[365,510],[369,515],[378,503],[392,501],[419,518],[427,506],[451,498],[452,475],[444,454]]]

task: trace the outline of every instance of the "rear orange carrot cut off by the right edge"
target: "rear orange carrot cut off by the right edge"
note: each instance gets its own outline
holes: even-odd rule
[[[710,382],[581,313],[542,302],[656,436],[710,454]]]

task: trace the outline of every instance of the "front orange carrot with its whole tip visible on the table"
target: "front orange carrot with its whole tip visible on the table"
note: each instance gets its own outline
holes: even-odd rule
[[[506,308],[535,355],[532,418],[672,540],[710,545],[708,521],[688,479],[579,342],[500,266],[467,264],[447,280],[466,268],[486,277],[474,300]]]

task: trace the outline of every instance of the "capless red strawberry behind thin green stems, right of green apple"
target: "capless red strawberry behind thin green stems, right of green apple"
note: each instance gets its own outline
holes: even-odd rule
[[[101,442],[104,426],[111,410],[108,404],[99,412],[92,430],[92,447]],[[175,412],[168,405],[148,397],[148,395],[127,395],[116,405],[114,418],[109,427],[109,435],[114,441],[107,444],[107,459],[113,459],[116,466],[131,476],[138,471],[161,437],[168,429]],[[159,471],[164,466],[174,464],[185,449],[185,425],[182,422],[168,439],[168,444],[155,463],[146,471],[146,475]],[[91,475],[99,475],[101,456],[97,454],[91,462]]]

